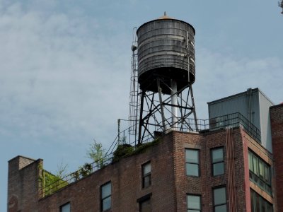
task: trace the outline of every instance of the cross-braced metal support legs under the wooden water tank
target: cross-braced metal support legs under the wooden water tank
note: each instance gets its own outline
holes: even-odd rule
[[[198,131],[192,84],[177,90],[175,82],[166,82],[163,76],[156,77],[152,83],[157,84],[158,92],[141,90],[139,93],[138,143],[149,139],[148,135],[156,139],[169,131]],[[161,83],[171,89],[171,95],[162,93]]]

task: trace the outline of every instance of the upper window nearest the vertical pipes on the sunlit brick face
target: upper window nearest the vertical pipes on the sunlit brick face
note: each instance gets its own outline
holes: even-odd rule
[[[223,147],[212,149],[212,175],[224,174],[224,154]]]

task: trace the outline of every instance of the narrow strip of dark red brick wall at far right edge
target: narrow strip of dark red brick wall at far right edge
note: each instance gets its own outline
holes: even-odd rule
[[[278,211],[283,211],[283,105],[270,107]]]

